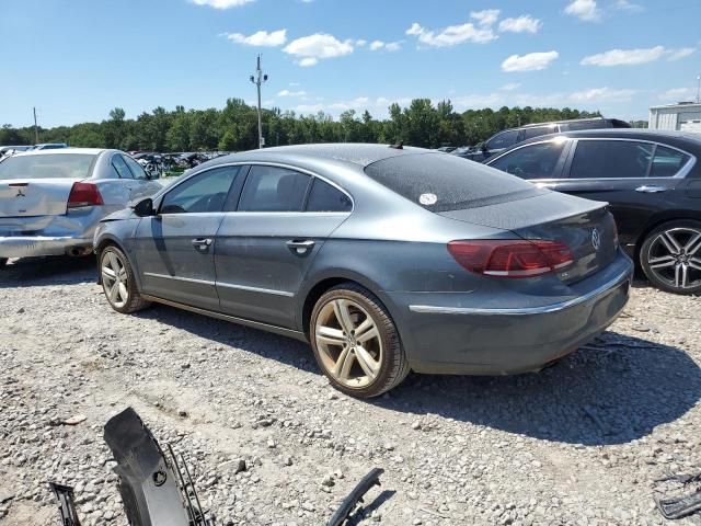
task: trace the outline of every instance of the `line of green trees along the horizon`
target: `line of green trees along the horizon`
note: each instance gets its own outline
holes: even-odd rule
[[[354,110],[338,118],[320,112],[298,115],[279,108],[263,110],[266,146],[307,142],[381,142],[436,148],[475,145],[495,132],[531,123],[599,116],[598,112],[541,107],[502,107],[456,112],[450,101],[433,104],[429,99],[414,99],[406,107],[389,106],[389,116],[372,117]],[[241,151],[257,147],[257,113],[241,99],[229,99],[222,110],[174,111],[157,107],[137,118],[126,118],[115,107],[101,123],[39,128],[39,142],[66,142],[76,147],[117,148],[125,151]],[[0,145],[30,145],[34,128],[0,128]]]

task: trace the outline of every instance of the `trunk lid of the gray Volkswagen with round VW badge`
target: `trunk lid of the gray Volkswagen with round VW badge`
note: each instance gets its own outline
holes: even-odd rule
[[[554,192],[516,202],[440,213],[451,219],[510,230],[528,240],[553,240],[572,250],[574,264],[558,276],[571,284],[608,266],[618,249],[613,216],[606,203]]]

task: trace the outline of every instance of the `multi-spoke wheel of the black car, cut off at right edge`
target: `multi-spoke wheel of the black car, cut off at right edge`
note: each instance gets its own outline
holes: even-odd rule
[[[640,250],[647,279],[673,294],[701,293],[701,221],[669,221],[650,232]]]

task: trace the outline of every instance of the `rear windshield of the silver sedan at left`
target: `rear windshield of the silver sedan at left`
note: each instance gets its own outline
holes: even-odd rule
[[[94,155],[54,153],[9,157],[0,162],[2,179],[85,179]]]

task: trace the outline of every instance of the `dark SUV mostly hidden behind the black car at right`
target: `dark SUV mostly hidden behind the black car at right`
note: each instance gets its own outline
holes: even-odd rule
[[[560,134],[563,132],[578,132],[582,129],[602,128],[630,128],[631,125],[618,118],[577,118],[573,121],[554,121],[552,123],[527,124],[519,128],[510,128],[494,134],[484,142],[472,148],[461,148],[453,151],[453,155],[470,159],[471,161],[484,162],[489,158],[501,153],[512,146],[524,140],[540,137],[542,135]]]

